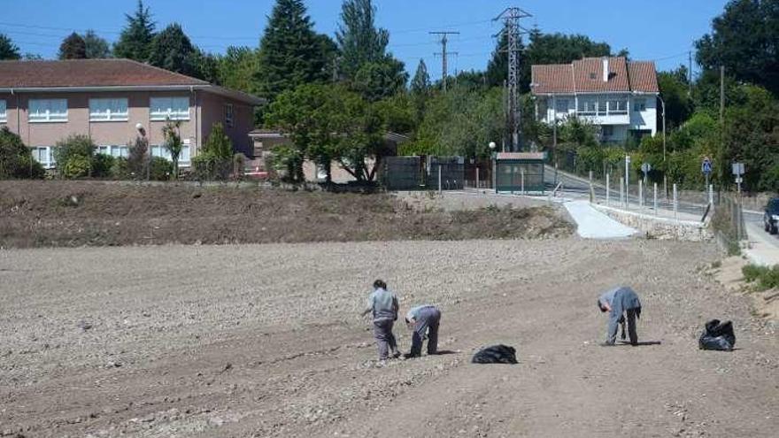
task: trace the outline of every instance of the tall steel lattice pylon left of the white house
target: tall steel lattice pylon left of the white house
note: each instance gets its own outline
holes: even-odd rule
[[[532,17],[517,7],[506,8],[493,21],[503,19],[505,33],[508,40],[508,131],[509,150],[515,152],[522,149],[521,142],[521,105],[520,105],[520,35],[524,31],[520,26],[520,19]],[[500,34],[498,34],[500,35]]]

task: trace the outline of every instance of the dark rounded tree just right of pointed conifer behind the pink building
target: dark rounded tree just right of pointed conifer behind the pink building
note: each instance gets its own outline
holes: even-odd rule
[[[149,64],[175,73],[199,76],[197,55],[197,49],[184,34],[181,25],[174,23],[154,36]]]

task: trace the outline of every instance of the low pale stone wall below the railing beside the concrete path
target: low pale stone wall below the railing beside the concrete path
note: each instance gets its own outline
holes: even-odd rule
[[[711,229],[708,227],[708,221],[701,223],[692,220],[656,218],[633,211],[623,211],[598,204],[591,205],[598,211],[605,213],[608,217],[628,227],[636,228],[648,238],[691,242],[708,242],[714,238]]]

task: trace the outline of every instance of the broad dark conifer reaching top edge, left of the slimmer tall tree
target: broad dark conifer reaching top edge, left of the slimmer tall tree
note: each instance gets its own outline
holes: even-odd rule
[[[273,100],[282,91],[327,79],[325,47],[302,0],[277,0],[259,44],[258,94]]]

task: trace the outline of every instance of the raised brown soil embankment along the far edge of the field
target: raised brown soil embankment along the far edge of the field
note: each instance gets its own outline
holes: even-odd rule
[[[420,210],[382,194],[0,181],[0,248],[516,239],[572,230],[548,207]]]

